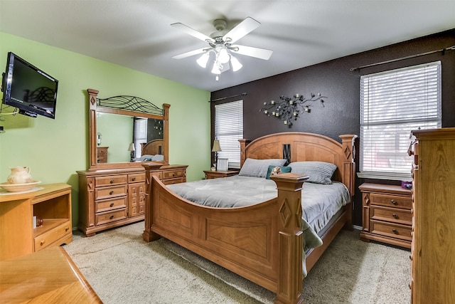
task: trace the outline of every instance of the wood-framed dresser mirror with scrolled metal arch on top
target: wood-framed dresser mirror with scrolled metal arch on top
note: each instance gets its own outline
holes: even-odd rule
[[[98,98],[88,89],[90,169],[168,164],[168,109],[134,96]]]

